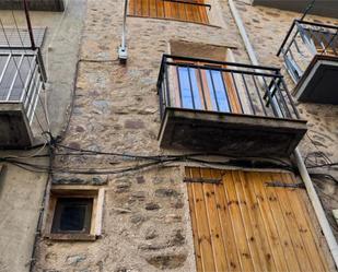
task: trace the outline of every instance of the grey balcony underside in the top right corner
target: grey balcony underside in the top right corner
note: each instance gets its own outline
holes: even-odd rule
[[[265,5],[302,13],[305,11],[308,3],[308,0],[253,0],[254,5]],[[317,0],[310,13],[327,17],[338,17],[338,1]]]

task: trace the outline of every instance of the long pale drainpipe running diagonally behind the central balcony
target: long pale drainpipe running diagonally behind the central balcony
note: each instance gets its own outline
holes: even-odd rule
[[[245,45],[245,49],[249,56],[249,59],[252,61],[252,63],[254,66],[259,66],[258,59],[256,57],[256,52],[254,50],[254,47],[248,38],[248,35],[246,33],[245,26],[243,24],[243,21],[238,14],[238,11],[235,7],[235,3],[233,2],[233,0],[228,0],[229,2],[229,7],[231,10],[231,13],[235,20],[235,23],[238,27],[240,34],[242,36],[242,39],[244,42]],[[334,261],[336,263],[336,268],[338,268],[338,244],[337,240],[335,238],[335,235],[333,233],[333,229],[327,221],[325,211],[323,209],[323,205],[320,203],[320,200],[317,196],[317,192],[313,186],[313,182],[311,180],[311,177],[308,175],[308,172],[306,169],[305,163],[303,161],[302,154],[299,150],[299,147],[296,147],[294,150],[294,157],[295,157],[295,162],[296,162],[296,166],[299,168],[300,175],[302,177],[302,180],[305,185],[310,201],[315,210],[315,214],[318,218],[319,225],[322,227],[322,230],[324,233],[324,236],[326,238],[326,241],[328,244],[328,247],[330,249],[330,252],[333,255]]]

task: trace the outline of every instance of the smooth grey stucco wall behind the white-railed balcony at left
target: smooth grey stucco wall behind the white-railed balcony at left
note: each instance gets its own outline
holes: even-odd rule
[[[33,27],[47,27],[43,48],[44,61],[49,75],[47,107],[53,132],[65,129],[67,109],[71,103],[75,64],[79,52],[85,1],[69,1],[65,13],[31,12]],[[24,14],[14,11],[19,27],[26,27]],[[0,11],[4,26],[15,27],[11,11]],[[40,133],[42,131],[39,131]],[[31,156],[46,154],[45,150],[0,151],[4,156]],[[15,157],[16,159],[16,157]],[[22,162],[48,165],[48,158],[23,158]],[[28,271],[35,229],[42,208],[47,173],[34,173],[7,165],[0,181],[0,271]]]

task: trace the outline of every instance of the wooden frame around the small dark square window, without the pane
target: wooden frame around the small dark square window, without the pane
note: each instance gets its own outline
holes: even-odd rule
[[[89,232],[54,232],[53,225],[56,215],[58,199],[92,199],[92,212]],[[104,204],[104,189],[92,186],[53,186],[46,205],[44,237],[53,240],[96,240],[102,234],[102,217]]]

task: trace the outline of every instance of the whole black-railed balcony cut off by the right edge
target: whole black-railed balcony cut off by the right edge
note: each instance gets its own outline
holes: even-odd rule
[[[295,20],[278,56],[300,102],[338,104],[338,26]]]

